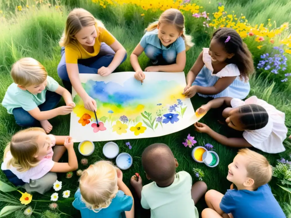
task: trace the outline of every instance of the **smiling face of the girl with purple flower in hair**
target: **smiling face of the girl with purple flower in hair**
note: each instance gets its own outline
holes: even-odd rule
[[[214,38],[212,38],[209,46],[209,55],[211,56],[211,63],[218,64],[224,62],[226,59],[230,59],[234,54],[229,54],[225,51],[223,45]]]

